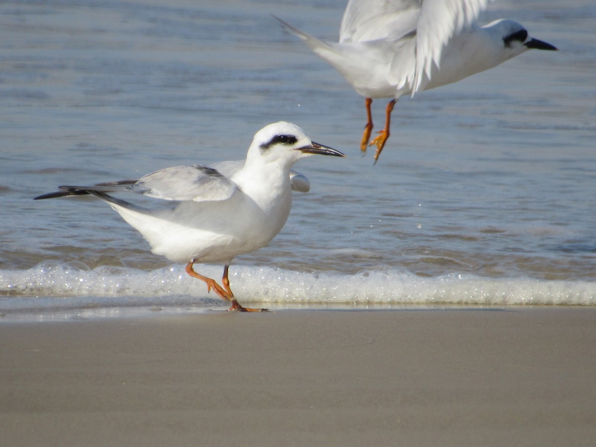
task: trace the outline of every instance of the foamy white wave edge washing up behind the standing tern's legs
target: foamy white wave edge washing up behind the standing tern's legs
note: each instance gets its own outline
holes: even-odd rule
[[[221,276],[220,266],[195,265]],[[243,303],[287,306],[596,305],[596,283],[534,278],[482,278],[470,274],[421,277],[406,270],[303,273],[233,266],[232,289]],[[114,306],[220,306],[183,266],[153,271],[87,268],[46,261],[27,270],[0,270],[0,311]]]

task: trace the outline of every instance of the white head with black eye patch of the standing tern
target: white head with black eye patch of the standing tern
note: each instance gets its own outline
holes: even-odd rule
[[[291,167],[312,154],[345,157],[340,151],[312,142],[298,126],[280,121],[260,129],[254,135],[246,156],[247,162],[278,163]]]

